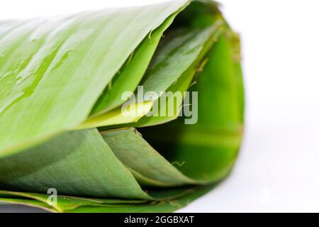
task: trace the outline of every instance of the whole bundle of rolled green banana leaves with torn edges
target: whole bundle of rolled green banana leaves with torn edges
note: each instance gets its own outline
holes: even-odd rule
[[[5,204],[174,211],[230,173],[242,140],[240,40],[214,1],[2,21],[0,87]]]

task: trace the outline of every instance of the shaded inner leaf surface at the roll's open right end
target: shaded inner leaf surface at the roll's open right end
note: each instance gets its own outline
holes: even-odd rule
[[[185,118],[139,131],[184,175],[216,182],[231,170],[242,138],[240,74],[232,48],[233,33],[221,35],[208,52],[208,62],[189,89],[198,92],[198,122]],[[209,102],[207,100],[209,97]],[[179,164],[178,164],[179,163]],[[182,165],[181,165],[182,164]]]

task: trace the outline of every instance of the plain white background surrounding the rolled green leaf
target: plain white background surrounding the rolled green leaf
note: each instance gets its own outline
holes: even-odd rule
[[[159,1],[1,0],[0,19]],[[242,37],[245,140],[233,174],[179,211],[319,211],[319,1],[220,2]]]

